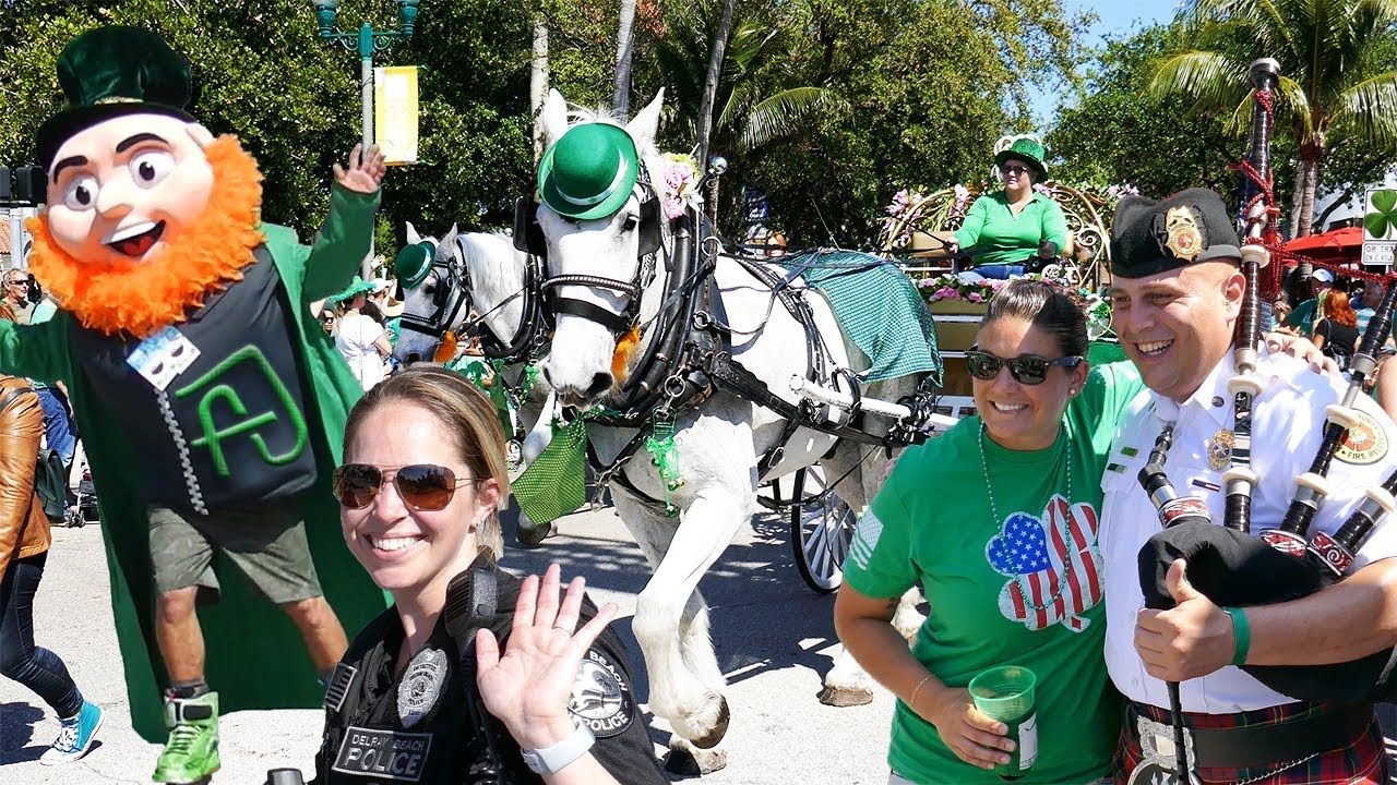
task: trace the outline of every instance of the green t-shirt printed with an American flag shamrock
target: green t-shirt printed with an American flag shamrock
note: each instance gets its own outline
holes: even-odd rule
[[[1102,656],[1101,475],[1141,388],[1130,363],[1092,369],[1046,450],[1016,453],[985,436],[982,462],[978,416],[909,448],[859,521],[844,567],[845,582],[868,596],[922,584],[930,615],[912,655],[946,684],[964,687],[996,665],[1038,676],[1038,761],[1021,785],[1090,782],[1111,768],[1120,707]],[[888,764],[926,785],[1003,782],[956,757],[902,701]]]

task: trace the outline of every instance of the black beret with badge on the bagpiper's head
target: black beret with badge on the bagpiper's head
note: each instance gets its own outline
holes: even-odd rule
[[[1111,274],[1144,278],[1185,264],[1241,258],[1241,242],[1222,197],[1189,189],[1155,201],[1129,196],[1111,222]]]

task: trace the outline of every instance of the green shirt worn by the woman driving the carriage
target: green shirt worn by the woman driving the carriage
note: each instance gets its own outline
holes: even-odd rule
[[[1014,215],[1004,191],[982,196],[970,205],[956,230],[956,242],[975,251],[975,267],[1018,264],[1051,240],[1062,250],[1067,244],[1067,217],[1052,198],[1034,193],[1032,201]]]

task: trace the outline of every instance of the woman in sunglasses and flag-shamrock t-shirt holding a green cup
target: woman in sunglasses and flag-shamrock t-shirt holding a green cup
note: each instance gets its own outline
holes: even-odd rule
[[[1011,281],[965,356],[979,415],[909,448],[859,524],[834,616],[900,698],[891,782],[1000,782],[1007,728],[965,689],[997,665],[1038,677],[1037,763],[1020,782],[1111,774],[1119,705],[1102,659],[1099,480],[1141,383],[1127,363],[1090,369],[1087,349],[1066,293]],[[890,622],[918,582],[930,615],[909,650]]]

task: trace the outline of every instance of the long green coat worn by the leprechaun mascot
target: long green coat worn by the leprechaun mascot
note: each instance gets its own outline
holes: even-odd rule
[[[388,605],[345,548],[339,506],[330,493],[331,471],[339,465],[345,419],[363,392],[320,321],[310,317],[307,305],[349,285],[369,247],[377,205],[377,194],[362,196],[335,187],[330,217],[314,246],[300,244],[296,233],[285,226],[261,226],[296,320],[292,344],[299,346],[300,383],[307,391],[306,422],[320,467],[316,486],[305,494],[306,534],[326,598],[351,637]],[[141,458],[130,451],[117,425],[122,422],[120,401],[99,399],[71,356],[68,331],[74,328],[78,328],[75,318],[64,310],[42,324],[0,321],[0,369],[39,381],[61,380],[68,387],[106,535],[112,610],[131,724],[145,739],[159,742],[165,739],[161,697],[165,668],[155,643],[147,504],[134,490],[140,487]],[[208,652],[205,673],[210,686],[219,691],[222,711],[320,705],[324,687],[295,624],[279,608],[254,595],[242,575],[232,575],[236,568],[215,564],[222,599],[201,606],[198,619]]]

